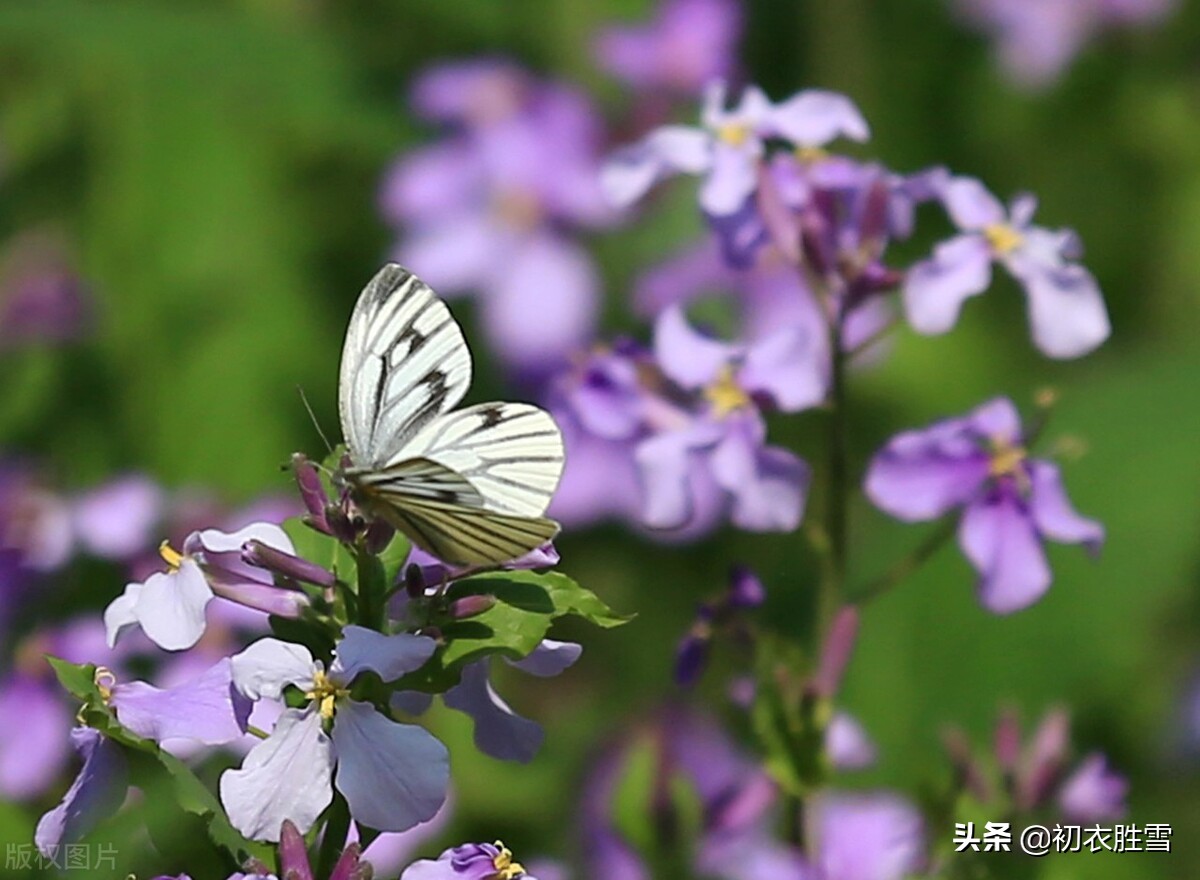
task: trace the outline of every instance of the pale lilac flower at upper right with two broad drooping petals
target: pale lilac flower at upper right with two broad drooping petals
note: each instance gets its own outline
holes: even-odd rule
[[[908,321],[919,333],[946,333],[962,303],[988,289],[998,262],[1025,288],[1033,341],[1051,358],[1078,358],[1109,336],[1109,316],[1096,279],[1073,262],[1079,240],[1068,229],[1032,225],[1037,202],[1015,198],[1006,211],[973,178],[944,185],[942,203],[961,234],[934,249],[908,271],[904,289]]]

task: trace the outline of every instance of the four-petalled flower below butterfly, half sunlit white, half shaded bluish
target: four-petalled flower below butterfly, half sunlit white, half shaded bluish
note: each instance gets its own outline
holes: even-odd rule
[[[307,831],[332,800],[331,786],[356,821],[378,831],[406,831],[431,819],[449,784],[445,747],[349,693],[360,672],[392,682],[422,666],[436,648],[420,635],[347,627],[328,671],[304,646],[277,639],[260,639],[235,655],[233,681],[244,695],[281,700],[295,686],[308,705],[284,710],[241,768],[222,774],[221,803],[234,827],[256,840],[277,840],[284,819]]]

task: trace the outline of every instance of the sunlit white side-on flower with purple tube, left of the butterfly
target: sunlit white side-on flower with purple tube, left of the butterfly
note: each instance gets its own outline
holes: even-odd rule
[[[167,571],[150,575],[144,583],[128,583],[104,610],[109,645],[134,625],[158,647],[182,651],[204,634],[205,609],[214,595],[283,617],[298,617],[307,597],[298,589],[276,587],[270,571],[247,564],[242,547],[258,541],[284,553],[294,553],[282,528],[257,522],[232,534],[215,528],[193,532],[184,552],[161,547]]]

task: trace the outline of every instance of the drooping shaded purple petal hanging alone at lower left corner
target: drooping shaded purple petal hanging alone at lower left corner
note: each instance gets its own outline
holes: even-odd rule
[[[79,840],[115,813],[128,791],[128,767],[116,743],[91,728],[72,730],[71,743],[83,758],[83,767],[59,806],[37,822],[34,843],[46,856]]]

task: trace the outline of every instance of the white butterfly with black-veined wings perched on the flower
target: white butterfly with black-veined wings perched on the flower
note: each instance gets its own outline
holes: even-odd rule
[[[479,403],[462,329],[420,279],[389,263],[362,291],[342,349],[338,411],[366,513],[456,564],[496,564],[558,533],[546,507],[563,437],[544,409]]]

